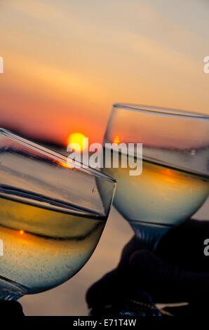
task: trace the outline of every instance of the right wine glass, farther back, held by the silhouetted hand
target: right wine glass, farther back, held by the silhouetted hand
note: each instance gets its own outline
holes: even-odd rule
[[[117,180],[114,206],[128,220],[140,246],[154,250],[173,226],[190,218],[208,198],[209,117],[179,110],[114,104],[104,148],[142,143],[142,173],[128,167],[102,169]]]

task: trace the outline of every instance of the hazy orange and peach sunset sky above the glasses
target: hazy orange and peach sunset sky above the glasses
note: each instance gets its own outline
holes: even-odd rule
[[[114,102],[209,114],[206,0],[1,0],[0,124],[100,142]]]

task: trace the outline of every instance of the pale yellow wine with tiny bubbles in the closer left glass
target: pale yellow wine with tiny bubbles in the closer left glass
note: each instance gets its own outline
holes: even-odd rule
[[[1,197],[1,293],[38,293],[65,282],[90,258],[105,221]]]

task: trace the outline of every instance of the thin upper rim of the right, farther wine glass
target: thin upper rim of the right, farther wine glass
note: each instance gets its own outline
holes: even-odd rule
[[[169,117],[186,117],[190,119],[205,119],[209,120],[207,114],[201,114],[198,112],[189,112],[186,110],[175,110],[166,107],[154,107],[152,105],[135,105],[131,103],[114,103],[113,107],[118,107],[124,110],[135,111],[135,112],[147,112],[150,114],[158,114]]]

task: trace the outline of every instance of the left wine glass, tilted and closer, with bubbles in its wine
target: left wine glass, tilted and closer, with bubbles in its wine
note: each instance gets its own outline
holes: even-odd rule
[[[115,185],[1,128],[0,299],[46,291],[75,275],[102,235]]]

